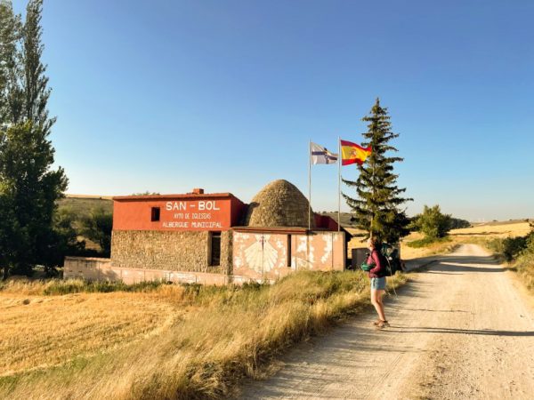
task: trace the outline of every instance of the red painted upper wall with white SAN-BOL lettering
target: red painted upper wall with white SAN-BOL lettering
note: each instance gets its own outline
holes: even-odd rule
[[[113,198],[114,230],[223,231],[239,223],[244,204],[225,194],[120,196]],[[159,207],[159,220],[151,220]]]

